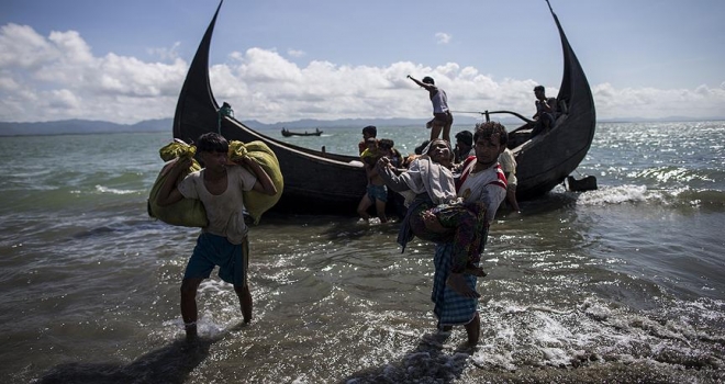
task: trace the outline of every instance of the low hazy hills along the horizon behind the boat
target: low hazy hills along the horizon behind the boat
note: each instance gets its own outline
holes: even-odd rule
[[[478,117],[478,118],[477,118]],[[454,127],[472,127],[481,118],[476,115],[455,116]],[[713,121],[722,118],[693,118],[693,117],[668,117],[668,118],[610,118],[600,120],[599,123],[633,123],[633,122],[693,122],[693,121]],[[509,128],[517,127],[518,120],[501,120]],[[293,122],[279,122],[272,124],[260,123],[256,120],[243,121],[244,124],[253,129],[335,129],[335,128],[362,128],[366,125],[378,127],[408,127],[423,126],[425,118],[341,118],[341,120],[298,120]],[[174,125],[172,118],[145,120],[136,124],[116,124],[92,120],[63,120],[55,122],[36,123],[2,123],[0,122],[0,136],[27,136],[27,135],[69,135],[69,134],[99,134],[99,133],[127,133],[127,132],[171,132]]]

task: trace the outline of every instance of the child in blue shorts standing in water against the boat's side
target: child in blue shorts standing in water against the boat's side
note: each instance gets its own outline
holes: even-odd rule
[[[386,188],[384,182],[378,174],[378,171],[375,167],[378,159],[386,154],[389,154],[389,150],[380,149],[378,147],[378,139],[375,137],[368,137],[366,139],[368,145],[367,149],[360,155],[360,160],[365,166],[365,173],[368,178],[368,184],[366,187],[365,194],[360,199],[360,202],[357,205],[357,213],[366,222],[370,222],[370,214],[368,210],[370,206],[375,205],[376,214],[380,219],[380,223],[388,223],[388,216],[386,215],[386,204],[388,203],[388,189]]]

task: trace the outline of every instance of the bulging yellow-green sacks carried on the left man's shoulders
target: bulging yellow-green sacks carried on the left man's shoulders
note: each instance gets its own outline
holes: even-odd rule
[[[150,217],[158,218],[159,221],[178,226],[185,227],[205,227],[207,222],[207,211],[204,205],[199,200],[194,199],[182,199],[181,201],[174,203],[168,206],[159,206],[156,203],[156,197],[164,184],[171,166],[179,159],[191,159],[191,166],[188,170],[185,170],[179,174],[179,178],[175,181],[175,184],[178,185],[187,174],[201,170],[201,166],[193,156],[197,153],[197,147],[193,145],[186,144],[179,139],[175,139],[170,144],[164,146],[159,149],[159,155],[164,161],[167,163],[164,166],[161,171],[158,173],[154,187],[152,187],[150,194],[148,197],[148,215]],[[230,142],[228,149],[228,159],[230,161],[241,160],[245,156],[249,156],[253,160],[257,161],[259,166],[269,174],[272,183],[277,188],[277,193],[275,195],[267,195],[257,191],[244,191],[244,205],[247,210],[247,213],[254,221],[254,224],[259,224],[261,215],[267,212],[269,208],[275,206],[279,201],[279,197],[282,195],[282,188],[285,185],[282,172],[279,168],[279,161],[275,153],[269,149],[269,147],[261,142],[250,142],[244,144],[242,142],[232,140]]]

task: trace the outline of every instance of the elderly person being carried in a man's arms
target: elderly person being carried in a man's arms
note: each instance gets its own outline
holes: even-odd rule
[[[436,138],[423,153],[401,174],[397,174],[388,159],[378,160],[378,173],[386,185],[408,197],[408,213],[401,223],[398,244],[405,251],[406,244],[414,236],[433,242],[451,241],[455,248],[454,271],[486,276],[486,272],[478,267],[483,249],[481,234],[484,234],[487,226],[486,205],[478,201],[464,204],[456,195],[454,176],[449,170],[453,150],[448,142]],[[426,216],[439,225],[430,226]],[[460,293],[476,292],[464,287]]]

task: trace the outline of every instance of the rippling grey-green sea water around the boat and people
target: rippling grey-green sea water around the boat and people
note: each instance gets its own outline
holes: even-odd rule
[[[355,154],[360,129],[286,140]],[[378,137],[410,153],[427,134]],[[599,190],[500,211],[475,349],[435,332],[433,245],[401,253],[394,222],[278,214],[250,230],[252,325],[213,274],[187,345],[198,230],[146,214],[169,140],[0,138],[0,382],[725,381],[725,122],[601,123],[573,174]]]

